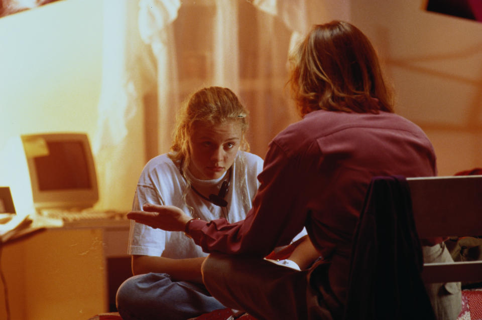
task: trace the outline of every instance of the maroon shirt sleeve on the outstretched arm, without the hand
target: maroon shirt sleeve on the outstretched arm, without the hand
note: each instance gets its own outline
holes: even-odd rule
[[[188,234],[205,252],[266,256],[287,245],[304,226],[306,212],[300,204],[300,165],[274,142],[258,176],[260,188],[245,220],[194,220]]]

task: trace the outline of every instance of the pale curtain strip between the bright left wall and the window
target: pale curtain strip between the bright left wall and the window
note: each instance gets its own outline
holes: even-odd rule
[[[99,187],[95,206],[120,211],[130,206],[129,186],[137,181],[132,171],[145,164],[139,121],[144,94],[156,82],[155,67],[139,34],[137,1],[103,0],[102,4],[102,82],[97,131],[91,137]]]

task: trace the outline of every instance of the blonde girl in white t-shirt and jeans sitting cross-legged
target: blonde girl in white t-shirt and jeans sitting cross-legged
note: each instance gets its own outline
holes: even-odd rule
[[[259,156],[247,152],[247,114],[227,88],[194,93],[178,115],[172,151],[144,168],[133,210],[152,203],[180,207],[202,220],[244,219],[263,166]],[[295,252],[294,262],[303,266]],[[124,320],[187,319],[225,308],[202,285],[201,263],[207,254],[183,232],[133,223],[129,253],[135,276],[116,296]]]

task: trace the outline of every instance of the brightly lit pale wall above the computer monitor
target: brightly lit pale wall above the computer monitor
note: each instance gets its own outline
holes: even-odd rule
[[[0,143],[51,130],[94,134],[102,8],[69,0],[0,19]]]

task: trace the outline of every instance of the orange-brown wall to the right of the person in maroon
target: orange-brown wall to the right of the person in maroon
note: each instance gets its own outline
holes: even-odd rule
[[[482,23],[426,12],[425,1],[351,1],[378,48],[396,112],[424,129],[439,175],[482,167]]]

